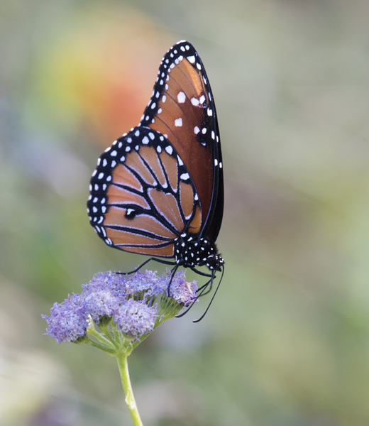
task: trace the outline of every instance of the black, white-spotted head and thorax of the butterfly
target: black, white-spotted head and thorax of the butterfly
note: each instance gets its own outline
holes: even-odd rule
[[[207,266],[211,271],[220,271],[224,265],[216,245],[209,238],[196,239],[188,234],[175,239],[175,261],[184,268]]]

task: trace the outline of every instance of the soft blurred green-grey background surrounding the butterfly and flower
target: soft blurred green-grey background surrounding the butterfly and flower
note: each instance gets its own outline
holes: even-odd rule
[[[181,39],[216,100],[226,272],[130,357],[143,422],[369,424],[368,28],[367,0],[1,1],[1,425],[131,425],[114,359],[40,315],[143,261],[94,233],[89,178]]]

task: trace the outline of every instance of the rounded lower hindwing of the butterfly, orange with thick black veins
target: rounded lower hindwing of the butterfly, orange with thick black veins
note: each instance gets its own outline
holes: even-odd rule
[[[91,224],[116,249],[172,257],[184,229],[201,229],[187,168],[170,142],[147,127],[132,129],[101,155],[90,192]]]

